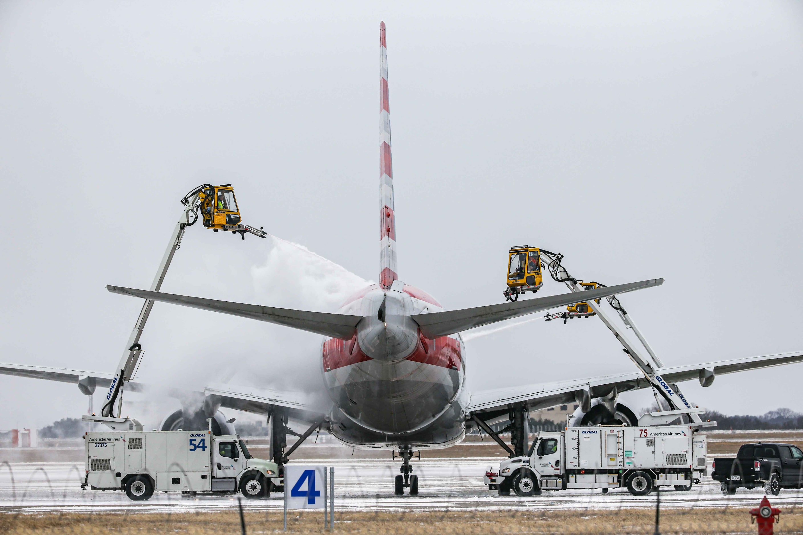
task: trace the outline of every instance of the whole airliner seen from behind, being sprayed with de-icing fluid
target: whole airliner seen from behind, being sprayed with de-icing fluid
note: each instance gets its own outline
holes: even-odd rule
[[[795,353],[686,367],[651,366],[646,363],[648,369],[636,362],[639,359],[638,352],[633,350],[628,355],[632,354],[631,358],[640,368],[638,371],[561,383],[468,391],[465,383],[471,366],[466,344],[460,334],[462,331],[560,306],[571,306],[578,302],[588,302],[589,306],[595,307],[594,300],[660,286],[663,279],[652,278],[615,286],[595,285],[593,289],[584,290],[581,294],[572,290],[567,294],[462,310],[445,310],[426,291],[403,282],[403,274],[397,268],[397,213],[393,188],[388,80],[385,23],[382,22],[377,284],[366,286],[353,294],[332,313],[108,286],[112,293],[143,298],[147,302],[166,302],[231,314],[305,330],[324,337],[320,355],[316,355],[316,359],[320,359],[317,362],[331,403],[308,403],[300,395],[231,384],[206,385],[196,392],[204,400],[203,407],[199,410],[206,417],[214,418],[219,407],[267,416],[271,423],[271,457],[279,467],[287,463],[288,457],[297,447],[296,445],[287,449],[285,442],[289,431],[288,422],[293,419],[310,426],[304,438],[316,428],[324,428],[349,446],[393,449],[402,458],[402,476],[396,478],[396,492],[410,488],[411,493],[417,493],[418,477],[411,475],[413,468],[410,465],[414,452],[421,448],[445,448],[457,444],[471,430],[482,428],[487,432],[489,426],[496,422],[509,420],[513,424],[526,419],[530,411],[561,403],[580,403],[584,413],[591,411],[594,403],[601,403],[609,407],[613,414],[618,414],[618,395],[624,391],[664,388],[664,399],[670,399],[673,395],[681,395],[675,386],[680,381],[699,379],[703,386],[708,386],[715,375],[803,361],[803,353]],[[237,232],[241,232],[244,237],[246,232],[262,231],[243,227]],[[546,253],[548,252],[544,252]],[[601,318],[607,321],[603,314]],[[481,358],[490,356],[480,355]],[[116,375],[107,375],[0,364],[0,373],[73,383],[92,378],[92,390],[97,384],[110,387],[110,393],[122,388],[123,383],[127,383],[126,388],[132,390],[143,391],[147,387],[143,383],[125,379],[124,367],[116,371]],[[109,407],[108,414],[104,415],[114,416],[114,403]],[[688,403],[686,407],[693,408]],[[687,412],[687,418],[693,419],[693,411]],[[620,419],[630,420],[623,422],[624,424],[638,424],[638,421],[633,421],[634,416],[628,416],[624,409],[621,414]],[[203,419],[201,421],[203,424]],[[190,415],[185,414],[183,419],[175,417],[165,421],[164,428],[187,430],[192,429],[193,425],[198,423],[191,422]],[[516,452],[509,448],[508,451],[521,455],[522,448],[526,449],[526,440],[526,432],[524,437],[515,436]],[[398,479],[399,477],[402,479]]]

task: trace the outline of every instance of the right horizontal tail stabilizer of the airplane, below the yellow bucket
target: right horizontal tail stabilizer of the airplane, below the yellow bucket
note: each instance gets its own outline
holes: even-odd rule
[[[505,319],[518,318],[525,314],[541,312],[556,308],[557,306],[573,305],[577,302],[591,301],[592,299],[606,298],[611,295],[625,294],[633,290],[641,290],[650,286],[663,284],[662,278],[653,278],[649,281],[630,282],[617,286],[586,290],[584,292],[549,295],[544,298],[527,299],[519,302],[504,302],[497,305],[476,306],[462,310],[446,310],[445,312],[432,312],[430,314],[414,314],[412,317],[426,338],[434,339],[446,334],[458,333],[461,330],[501,322]]]

